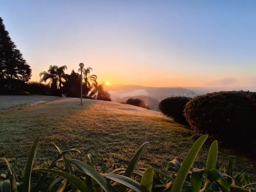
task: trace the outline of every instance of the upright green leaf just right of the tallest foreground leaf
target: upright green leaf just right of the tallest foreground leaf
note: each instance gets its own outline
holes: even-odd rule
[[[218,156],[218,142],[215,140],[213,143],[211,143],[210,149],[209,149],[209,153],[208,153],[208,157],[207,157],[207,163],[206,163],[206,169],[207,170],[212,170],[216,168],[216,163],[217,163],[217,156]],[[206,183],[206,179],[207,179],[207,171],[205,172],[205,179],[204,179],[204,186]]]

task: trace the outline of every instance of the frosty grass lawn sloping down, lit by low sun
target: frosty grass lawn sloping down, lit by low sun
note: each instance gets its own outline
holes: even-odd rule
[[[166,169],[168,161],[184,160],[195,142],[190,130],[163,118],[156,111],[139,107],[96,100],[61,98],[22,110],[0,114],[0,160],[19,160],[24,167],[36,135],[40,134],[35,167],[47,167],[58,152],[51,142],[61,149],[74,147],[83,156],[97,152],[104,156],[107,166],[114,163],[128,164],[138,147],[149,141],[139,166],[151,165]],[[209,145],[201,149],[195,167],[203,168]],[[223,170],[228,155],[237,156],[235,171],[246,171],[253,179],[256,162],[231,150],[220,149],[217,167]],[[0,164],[0,166],[3,164]],[[0,167],[1,168],[1,167]],[[18,173],[20,176],[22,173]]]

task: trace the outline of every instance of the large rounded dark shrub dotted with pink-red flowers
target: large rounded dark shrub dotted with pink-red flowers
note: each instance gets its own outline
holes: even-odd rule
[[[191,127],[234,149],[256,145],[256,93],[222,91],[191,99],[185,107]]]

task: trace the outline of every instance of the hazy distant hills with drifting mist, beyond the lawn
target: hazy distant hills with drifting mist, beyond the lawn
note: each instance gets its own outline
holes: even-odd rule
[[[185,96],[195,97],[197,94],[189,89],[181,87],[146,87],[140,85],[112,85],[106,88],[113,101],[124,97],[149,96],[161,101],[167,97]]]

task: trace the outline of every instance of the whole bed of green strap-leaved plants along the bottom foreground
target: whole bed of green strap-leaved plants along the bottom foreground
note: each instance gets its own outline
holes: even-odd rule
[[[36,169],[45,174],[39,179],[34,188],[31,189],[31,170],[35,160],[36,149],[39,143],[39,136],[34,142],[28,163],[25,168],[23,182],[17,182],[17,176],[14,166],[5,159],[8,172],[1,173],[0,192],[26,192],[26,191],[81,191],[81,192],[252,192],[256,183],[251,183],[244,173],[239,173],[233,177],[232,169],[235,164],[235,157],[229,157],[228,166],[225,167],[225,173],[216,170],[218,143],[214,141],[210,147],[206,168],[193,168],[195,158],[206,141],[207,135],[201,136],[188,152],[183,163],[180,164],[176,159],[170,161],[167,170],[171,175],[165,174],[153,167],[136,168],[139,160],[145,152],[149,142],[144,143],[135,153],[134,157],[126,167],[121,164],[114,164],[106,169],[103,158],[101,166],[97,166],[98,155],[93,159],[90,154],[88,160],[82,162],[77,159],[68,160],[66,154],[75,152],[81,154],[77,149],[62,152],[56,146],[60,155],[47,169]],[[58,161],[63,161],[67,172],[54,169]],[[74,175],[72,167],[76,167],[80,172],[80,177]],[[46,184],[47,174],[56,176],[50,178]],[[45,185],[46,184],[46,185]],[[44,186],[44,187],[43,187]]]

